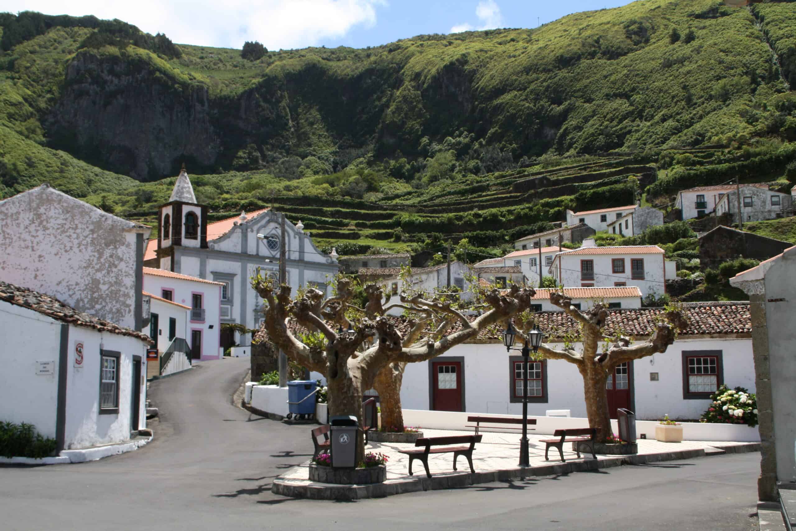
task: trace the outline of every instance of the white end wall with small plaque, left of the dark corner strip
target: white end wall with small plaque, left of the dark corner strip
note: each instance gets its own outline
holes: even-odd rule
[[[0,338],[0,420],[33,424],[54,439],[60,322],[0,302]],[[37,361],[53,361],[53,374],[37,376]]]

